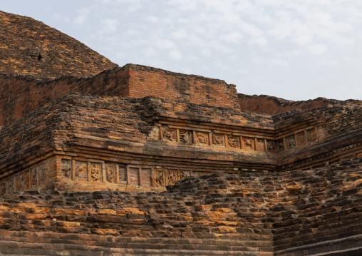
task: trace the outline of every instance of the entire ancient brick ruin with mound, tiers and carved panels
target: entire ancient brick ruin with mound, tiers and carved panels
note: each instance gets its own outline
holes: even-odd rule
[[[247,96],[0,21],[0,255],[362,255],[362,101]]]

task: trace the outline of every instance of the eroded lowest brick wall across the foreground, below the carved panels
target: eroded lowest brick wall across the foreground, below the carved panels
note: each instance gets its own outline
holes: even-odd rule
[[[5,195],[0,253],[360,255],[361,163],[214,173],[181,180],[165,193]]]

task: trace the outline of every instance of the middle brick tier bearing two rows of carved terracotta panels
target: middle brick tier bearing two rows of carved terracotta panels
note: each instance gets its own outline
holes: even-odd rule
[[[361,111],[323,106],[269,116],[73,93],[0,130],[0,195],[162,191],[207,173],[308,170],[361,157]],[[36,175],[43,182],[33,186]]]

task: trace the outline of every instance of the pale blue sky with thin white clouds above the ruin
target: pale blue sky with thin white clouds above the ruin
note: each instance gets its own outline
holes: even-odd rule
[[[9,0],[111,61],[219,78],[239,93],[362,100],[362,1]]]

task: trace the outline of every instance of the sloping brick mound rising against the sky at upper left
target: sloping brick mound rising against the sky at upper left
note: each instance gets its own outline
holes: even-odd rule
[[[85,77],[117,66],[71,36],[26,16],[0,11],[0,34],[1,73]]]

